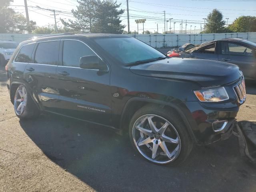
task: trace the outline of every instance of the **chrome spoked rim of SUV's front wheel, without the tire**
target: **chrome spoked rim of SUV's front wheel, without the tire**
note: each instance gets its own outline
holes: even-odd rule
[[[163,117],[154,114],[141,116],[133,125],[132,137],[140,154],[151,162],[166,164],[180,154],[180,136]]]

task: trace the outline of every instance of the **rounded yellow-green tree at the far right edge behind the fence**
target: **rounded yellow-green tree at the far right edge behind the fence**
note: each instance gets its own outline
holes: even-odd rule
[[[228,28],[233,32],[256,32],[256,17],[240,16]]]

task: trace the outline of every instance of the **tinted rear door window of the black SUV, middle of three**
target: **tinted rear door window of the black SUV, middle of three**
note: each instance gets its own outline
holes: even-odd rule
[[[59,41],[39,43],[35,54],[35,63],[58,65]]]

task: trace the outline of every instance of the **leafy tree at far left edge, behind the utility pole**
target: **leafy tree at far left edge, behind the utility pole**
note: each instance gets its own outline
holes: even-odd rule
[[[26,18],[9,8],[12,0],[0,2],[0,33],[25,33],[27,28]],[[30,21],[30,28],[35,28],[36,22]]]

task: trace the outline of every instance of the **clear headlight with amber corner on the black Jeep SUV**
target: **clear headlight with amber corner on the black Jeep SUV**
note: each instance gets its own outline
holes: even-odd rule
[[[224,87],[202,89],[194,91],[194,93],[202,102],[218,102],[229,99],[228,93]]]

